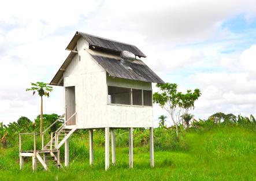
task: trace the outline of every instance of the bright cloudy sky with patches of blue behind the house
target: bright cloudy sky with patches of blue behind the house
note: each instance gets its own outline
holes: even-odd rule
[[[0,6],[0,122],[39,115],[39,96],[25,89],[51,81],[76,31],[135,44],[165,82],[201,89],[196,119],[256,115],[256,1],[9,0]],[[54,86],[44,114],[63,114],[63,97]],[[160,115],[154,105],[155,126]]]

